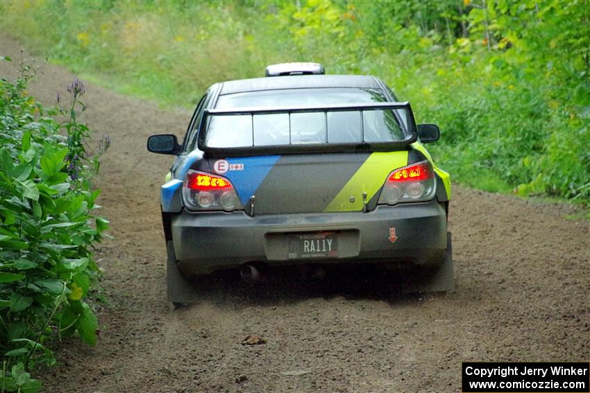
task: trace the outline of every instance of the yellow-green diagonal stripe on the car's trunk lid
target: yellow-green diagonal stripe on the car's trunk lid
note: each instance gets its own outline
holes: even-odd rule
[[[367,201],[371,200],[385,183],[387,175],[406,165],[407,150],[372,153],[324,211],[362,210],[362,193],[366,193]],[[329,173],[326,175],[330,176]]]

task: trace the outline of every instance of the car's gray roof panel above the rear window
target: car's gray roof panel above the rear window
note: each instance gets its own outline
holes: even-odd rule
[[[219,94],[278,89],[321,89],[326,87],[379,89],[380,85],[378,79],[374,76],[364,75],[273,76],[272,78],[253,78],[223,82],[221,83]]]

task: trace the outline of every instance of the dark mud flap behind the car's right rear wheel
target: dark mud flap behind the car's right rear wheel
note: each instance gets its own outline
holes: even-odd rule
[[[446,251],[439,268],[428,274],[414,274],[402,283],[403,293],[448,292],[455,289],[455,268],[453,266],[453,242],[450,232],[446,235]]]

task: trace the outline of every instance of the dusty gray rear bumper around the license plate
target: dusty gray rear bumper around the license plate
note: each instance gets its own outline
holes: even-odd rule
[[[395,228],[396,238],[390,239]],[[250,217],[244,212],[190,213],[171,220],[178,267],[206,274],[243,263],[389,263],[434,266],[446,249],[444,206],[436,200],[379,206],[368,213],[297,213]],[[287,234],[337,232],[338,256],[289,259]]]

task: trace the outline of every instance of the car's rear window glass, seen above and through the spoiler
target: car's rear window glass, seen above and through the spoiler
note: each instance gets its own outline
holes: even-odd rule
[[[216,109],[302,107],[385,102],[377,89],[285,89],[220,96]],[[401,141],[405,114],[401,110],[354,110],[211,116],[205,144],[211,148],[303,143]]]

